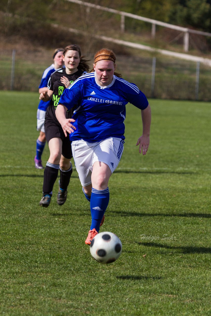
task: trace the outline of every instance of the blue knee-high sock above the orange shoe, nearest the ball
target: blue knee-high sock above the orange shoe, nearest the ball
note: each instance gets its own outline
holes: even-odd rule
[[[109,204],[109,188],[105,190],[96,190],[92,188],[91,199],[90,199],[90,209],[91,209],[91,227],[95,228],[97,232],[100,230],[100,223],[102,217]]]

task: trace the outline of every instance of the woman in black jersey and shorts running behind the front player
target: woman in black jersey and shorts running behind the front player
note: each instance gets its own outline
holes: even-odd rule
[[[45,133],[50,150],[50,157],[46,163],[43,180],[43,197],[40,206],[48,207],[51,202],[53,185],[57,179],[60,170],[59,192],[57,195],[57,203],[63,205],[67,198],[67,186],[70,182],[72,174],[72,158],[71,143],[69,137],[65,137],[61,125],[59,124],[55,110],[59,103],[61,94],[68,88],[72,82],[83,73],[89,71],[87,61],[81,57],[80,47],[78,45],[69,45],[65,47],[63,53],[63,61],[65,68],[61,68],[53,72],[48,81],[48,91],[40,94],[40,100],[51,100],[45,115]],[[73,109],[74,110],[74,109]],[[73,110],[66,112],[66,118],[70,119]]]

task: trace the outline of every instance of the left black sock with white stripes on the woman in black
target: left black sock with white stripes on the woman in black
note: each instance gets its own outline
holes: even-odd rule
[[[44,180],[42,192],[43,194],[52,195],[53,185],[58,177],[59,165],[54,165],[47,161],[46,167],[44,170]]]

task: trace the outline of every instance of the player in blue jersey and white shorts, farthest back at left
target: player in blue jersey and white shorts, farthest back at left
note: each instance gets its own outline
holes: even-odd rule
[[[64,64],[63,59],[62,59],[62,54],[64,52],[64,48],[57,48],[55,49],[53,53],[53,64],[49,66],[42,75],[42,79],[39,85],[39,94],[42,92],[47,92],[47,83],[48,80],[51,76],[51,74],[61,68]],[[40,103],[38,105],[37,109],[37,131],[40,131],[40,135],[37,138],[36,142],[36,155],[34,157],[34,162],[35,162],[35,168],[37,169],[43,169],[42,166],[42,152],[45,147],[46,143],[46,135],[45,135],[45,128],[44,128],[44,121],[45,121],[45,114],[47,107],[50,104],[50,100],[47,102],[44,102],[43,100],[40,100]]]

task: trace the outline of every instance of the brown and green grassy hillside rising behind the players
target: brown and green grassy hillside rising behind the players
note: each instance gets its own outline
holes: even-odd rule
[[[12,4],[15,5],[14,2]],[[113,49],[117,55],[118,70],[126,80],[136,83],[147,97],[211,100],[210,69],[207,65],[200,65],[199,92],[196,94],[196,63],[103,42],[92,36],[92,34],[107,35],[116,39],[183,52],[183,38],[178,31],[157,27],[156,38],[152,39],[151,25],[136,21],[131,23],[131,27],[126,27],[126,31],[122,33],[120,16],[94,9],[87,11],[84,7],[67,1],[45,3],[45,10],[48,9],[48,14],[51,12],[51,19],[48,15],[44,19],[45,10],[41,9],[42,5],[40,4],[40,15],[36,19],[34,15],[37,11],[34,8],[34,13],[31,12],[31,6],[31,9],[27,11],[28,15],[31,12],[31,19],[28,19],[26,14],[14,16],[0,13],[1,90],[9,90],[11,87],[13,50],[16,50],[14,90],[36,92],[43,71],[53,62],[53,50],[56,47],[76,43],[81,46],[82,53],[90,59],[90,67],[94,53],[98,49],[102,47]],[[17,13],[20,14],[22,11],[26,12],[24,6],[21,6]],[[51,23],[56,23],[61,27],[77,28],[87,32],[87,35],[76,35],[64,28],[52,27]],[[132,27],[135,31],[131,29]],[[191,36],[193,35],[190,35],[189,53],[211,58],[209,50],[202,51],[197,48],[197,46],[202,47],[206,40],[202,36],[198,38]],[[151,84],[153,57],[156,57],[154,91]]]

